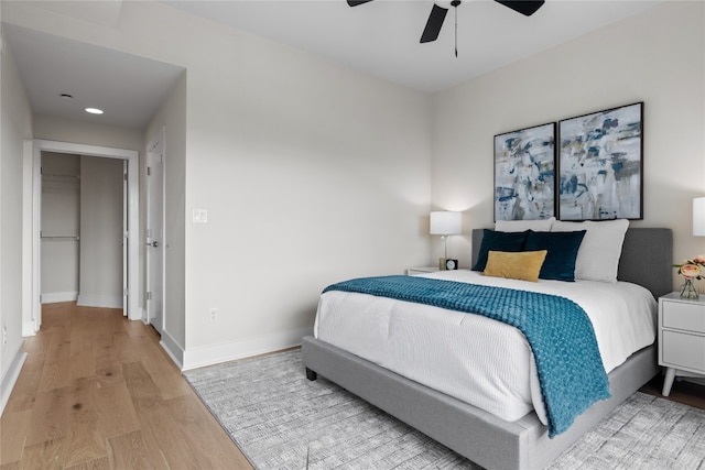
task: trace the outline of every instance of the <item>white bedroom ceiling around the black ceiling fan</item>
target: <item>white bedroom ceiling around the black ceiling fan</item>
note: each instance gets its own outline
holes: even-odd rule
[[[662,1],[662,0],[661,0]],[[494,0],[449,8],[435,42],[420,44],[431,0],[166,1],[217,22],[270,37],[421,91],[438,91],[623,20],[660,1],[546,0],[524,17]]]

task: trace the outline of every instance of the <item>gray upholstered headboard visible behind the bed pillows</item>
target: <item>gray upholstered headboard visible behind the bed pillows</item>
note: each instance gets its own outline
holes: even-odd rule
[[[482,229],[473,229],[473,264]],[[655,298],[673,291],[673,232],[662,228],[630,228],[619,259],[617,278],[647,287]]]

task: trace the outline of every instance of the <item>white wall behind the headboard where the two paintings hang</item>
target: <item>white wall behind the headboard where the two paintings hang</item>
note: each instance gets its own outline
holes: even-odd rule
[[[631,225],[672,228],[675,261],[705,252],[691,226],[705,196],[704,8],[669,1],[437,94],[434,204],[491,227],[495,134],[644,101],[644,218]],[[467,266],[468,238],[456,244]]]

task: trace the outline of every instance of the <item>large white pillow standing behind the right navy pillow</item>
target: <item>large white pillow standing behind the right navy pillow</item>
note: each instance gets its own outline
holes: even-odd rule
[[[629,220],[565,222],[556,220],[552,232],[586,230],[575,259],[575,278],[583,281],[617,282],[617,269]]]

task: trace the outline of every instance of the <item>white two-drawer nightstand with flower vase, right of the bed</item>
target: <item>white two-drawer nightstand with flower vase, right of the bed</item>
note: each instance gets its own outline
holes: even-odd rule
[[[705,296],[672,292],[659,298],[659,365],[666,368],[663,396],[676,375],[705,376]]]

